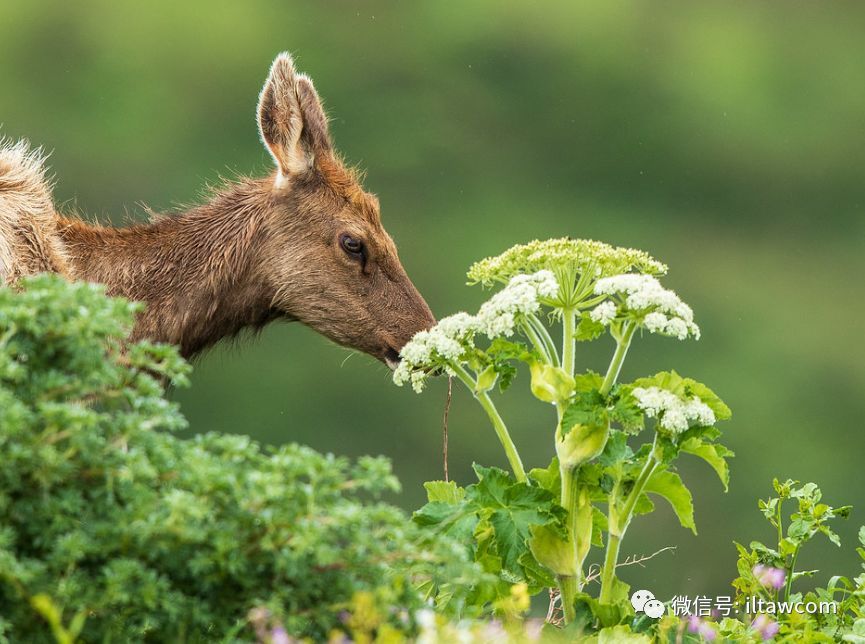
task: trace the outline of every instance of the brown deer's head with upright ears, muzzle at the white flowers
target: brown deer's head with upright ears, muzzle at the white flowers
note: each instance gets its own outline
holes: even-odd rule
[[[258,251],[272,310],[393,368],[435,318],[382,227],[378,199],[337,157],[312,81],[288,54],[270,69],[258,125],[276,163]]]

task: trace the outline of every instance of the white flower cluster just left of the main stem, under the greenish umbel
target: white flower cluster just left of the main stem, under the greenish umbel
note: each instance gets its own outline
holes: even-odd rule
[[[559,284],[552,271],[516,275],[478,311],[478,329],[490,339],[514,333],[517,317],[536,313],[541,298],[553,297]]]

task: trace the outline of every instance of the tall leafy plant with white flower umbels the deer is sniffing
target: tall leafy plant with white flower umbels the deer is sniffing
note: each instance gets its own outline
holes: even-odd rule
[[[631,521],[652,511],[652,497],[696,532],[691,494],[675,471],[680,454],[705,460],[727,486],[732,452],[717,442],[715,423],[730,410],[718,396],[675,371],[618,382],[639,334],[699,337],[690,307],[656,277],[666,270],[642,251],[594,241],[516,246],[468,273],[472,283],[503,288],[476,315],[457,313],[417,334],[394,374],[418,392],[433,373],[456,377],[486,411],[511,467],[508,474],[476,466],[478,482],[466,488],[427,484],[429,503],[415,521],[470,543],[502,588],[557,587],[574,632],[629,630],[633,609],[616,566]],[[606,336],[615,343],[606,370],[577,370],[577,343]],[[546,468],[529,472],[492,399],[520,363],[535,397],[552,405],[556,452]],[[585,569],[592,547],[606,548],[596,597],[587,593]]]

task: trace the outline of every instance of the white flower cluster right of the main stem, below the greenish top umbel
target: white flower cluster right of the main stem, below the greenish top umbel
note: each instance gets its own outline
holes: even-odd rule
[[[700,338],[700,327],[694,323],[691,307],[651,275],[604,277],[595,284],[595,293],[619,300],[618,306],[607,300],[592,309],[589,317],[596,322],[607,325],[620,312],[630,311],[644,316],[643,325],[651,333],[671,335],[679,340],[688,335]]]

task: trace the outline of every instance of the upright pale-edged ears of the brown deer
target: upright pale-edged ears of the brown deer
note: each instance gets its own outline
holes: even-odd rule
[[[330,149],[327,117],[315,87],[295,71],[287,53],[273,61],[261,90],[258,128],[281,178],[306,172],[316,153]]]

